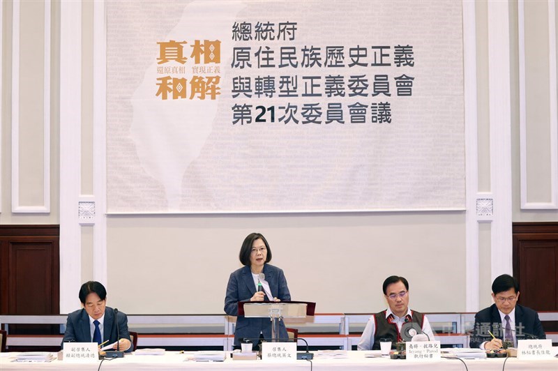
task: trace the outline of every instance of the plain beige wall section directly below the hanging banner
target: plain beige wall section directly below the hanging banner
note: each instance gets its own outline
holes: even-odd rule
[[[114,217],[108,280],[112,300],[130,312],[221,312],[241,243],[261,232],[294,300],[315,301],[319,312],[382,310],[382,282],[394,274],[409,280],[416,308],[462,310],[463,222],[463,213]],[[127,267],[138,285],[124,279]]]

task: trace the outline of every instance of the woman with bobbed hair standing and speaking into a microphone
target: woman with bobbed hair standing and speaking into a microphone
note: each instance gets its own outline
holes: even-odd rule
[[[246,318],[239,316],[239,301],[289,301],[291,294],[282,269],[268,264],[271,261],[269,243],[262,234],[246,236],[239,253],[244,265],[233,273],[227,285],[225,313],[237,316],[234,331],[234,348],[240,348],[244,338],[271,339],[269,318]],[[278,338],[287,338],[285,324],[280,321]]]

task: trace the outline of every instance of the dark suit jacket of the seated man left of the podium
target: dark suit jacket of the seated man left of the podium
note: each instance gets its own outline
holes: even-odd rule
[[[123,312],[118,312],[118,326],[121,339],[130,340],[128,332],[128,317]],[[103,323],[103,341],[109,340],[106,345],[112,344],[117,338],[116,326],[114,324],[114,309],[105,307],[105,321]],[[64,342],[92,342],[91,325],[89,324],[89,315],[82,308],[71,312],[66,321],[66,332],[64,333]],[[130,340],[131,341],[131,340]],[[63,346],[63,345],[62,345]],[[128,349],[133,351],[133,346]]]

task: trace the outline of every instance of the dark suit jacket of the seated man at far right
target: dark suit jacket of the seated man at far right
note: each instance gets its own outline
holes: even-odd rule
[[[483,342],[490,341],[492,336],[488,331],[492,332],[496,338],[504,338],[502,318],[496,304],[490,305],[490,307],[481,310],[475,315],[475,327],[471,334],[469,346],[478,348]],[[537,312],[523,305],[515,305],[515,337],[518,340],[546,339],[543,324],[538,319]]]

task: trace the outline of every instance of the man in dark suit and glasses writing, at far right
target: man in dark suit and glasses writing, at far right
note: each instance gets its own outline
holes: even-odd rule
[[[470,347],[500,349],[502,341],[517,347],[518,340],[546,338],[537,312],[517,304],[518,298],[518,280],[511,275],[499,275],[492,282],[494,304],[475,315]]]

